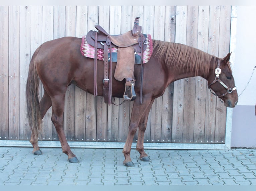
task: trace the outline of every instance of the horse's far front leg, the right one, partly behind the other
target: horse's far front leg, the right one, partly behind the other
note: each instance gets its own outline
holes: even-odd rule
[[[149,156],[144,151],[144,134],[147,127],[147,120],[148,120],[148,114],[150,112],[151,106],[153,104],[154,100],[150,102],[147,109],[144,112],[144,115],[142,116],[140,123],[139,123],[139,133],[138,133],[138,141],[136,145],[137,151],[140,153],[140,160],[142,161],[150,161]]]

